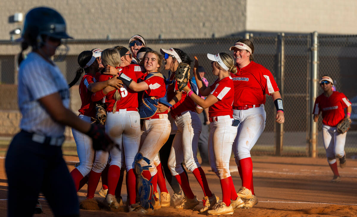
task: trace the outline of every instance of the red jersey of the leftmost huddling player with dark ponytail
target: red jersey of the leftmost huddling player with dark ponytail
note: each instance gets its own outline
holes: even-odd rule
[[[79,95],[81,97],[82,105],[78,110],[80,114],[86,115],[88,117],[95,117],[95,103],[93,103],[91,97],[92,92],[88,90],[88,85],[90,83],[96,82],[96,79],[91,74],[85,74],[79,84]]]

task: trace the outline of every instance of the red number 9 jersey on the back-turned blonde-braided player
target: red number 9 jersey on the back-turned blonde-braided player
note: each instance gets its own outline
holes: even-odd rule
[[[133,79],[134,81],[137,81],[139,78],[142,77],[142,75],[144,75],[142,67],[136,64],[130,64],[125,67],[120,67],[119,70],[121,70],[122,73],[124,73],[126,76]],[[108,79],[111,79],[112,77],[113,77],[112,75],[101,74],[99,76],[99,81],[100,82],[106,81]],[[108,94],[104,95],[103,90],[101,90],[92,95],[92,100],[94,102],[102,100],[102,102],[104,102],[106,105],[106,111],[112,112],[114,103],[116,102],[116,100],[114,99],[115,91],[116,90],[112,90]],[[116,103],[116,110],[139,107],[137,101],[137,92],[135,92],[130,88],[127,88],[124,85],[124,87],[119,89],[119,93],[121,95],[121,99]]]

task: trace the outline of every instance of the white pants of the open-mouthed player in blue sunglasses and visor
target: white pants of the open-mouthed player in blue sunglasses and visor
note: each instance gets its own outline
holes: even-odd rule
[[[175,119],[175,123],[177,132],[167,162],[172,176],[183,173],[182,162],[191,172],[200,167],[197,159],[198,138],[202,129],[200,118],[196,112],[186,111]]]

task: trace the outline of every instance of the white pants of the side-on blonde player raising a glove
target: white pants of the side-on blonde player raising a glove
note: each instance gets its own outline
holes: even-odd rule
[[[211,131],[208,138],[208,160],[212,171],[220,179],[231,176],[229,160],[232,145],[237,134],[237,127],[232,126],[233,118],[230,115],[218,116],[210,123]]]

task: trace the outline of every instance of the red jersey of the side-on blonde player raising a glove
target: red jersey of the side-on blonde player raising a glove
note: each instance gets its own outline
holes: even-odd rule
[[[231,77],[218,79],[211,86],[211,94],[217,97],[218,102],[208,109],[209,117],[233,115],[232,103],[234,99],[234,86]]]

